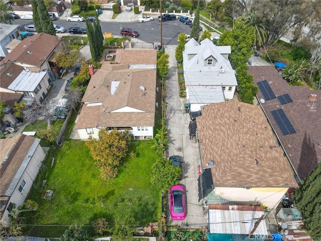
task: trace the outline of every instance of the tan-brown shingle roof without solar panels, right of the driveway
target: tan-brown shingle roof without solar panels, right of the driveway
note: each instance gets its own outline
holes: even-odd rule
[[[259,106],[227,101],[201,109],[197,127],[202,166],[214,162],[214,186],[297,186]]]

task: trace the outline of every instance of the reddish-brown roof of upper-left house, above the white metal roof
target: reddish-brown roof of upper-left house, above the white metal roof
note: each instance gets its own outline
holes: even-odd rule
[[[61,41],[59,37],[44,33],[30,36],[21,41],[3,61],[41,66]]]

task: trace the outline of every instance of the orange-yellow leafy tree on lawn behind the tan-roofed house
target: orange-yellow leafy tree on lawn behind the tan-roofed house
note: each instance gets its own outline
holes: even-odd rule
[[[118,174],[118,167],[127,155],[130,137],[127,132],[111,132],[105,129],[99,131],[99,140],[89,136],[86,142],[89,153],[96,160],[103,179],[113,179]]]

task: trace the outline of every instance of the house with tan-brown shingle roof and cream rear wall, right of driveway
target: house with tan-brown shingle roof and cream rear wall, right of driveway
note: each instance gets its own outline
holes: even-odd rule
[[[290,187],[297,187],[260,106],[238,101],[202,106],[197,128],[199,198],[208,204],[272,208]]]

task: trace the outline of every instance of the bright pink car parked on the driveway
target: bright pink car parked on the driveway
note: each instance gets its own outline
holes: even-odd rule
[[[173,220],[184,220],[186,217],[185,188],[183,185],[174,185],[170,189],[170,207]]]

